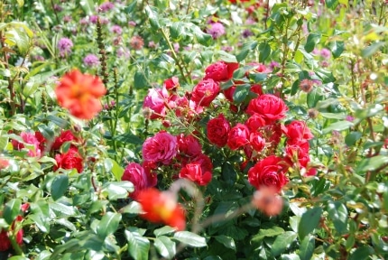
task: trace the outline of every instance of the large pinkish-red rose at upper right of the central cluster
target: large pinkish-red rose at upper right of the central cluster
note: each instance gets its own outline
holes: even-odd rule
[[[284,118],[288,110],[282,98],[264,94],[249,102],[246,113],[251,116],[257,114],[263,118],[266,125],[273,125],[276,120]]]

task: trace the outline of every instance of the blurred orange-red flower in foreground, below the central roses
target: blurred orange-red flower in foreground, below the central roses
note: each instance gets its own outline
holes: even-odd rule
[[[163,223],[177,230],[186,228],[184,209],[178,204],[175,195],[155,188],[140,190],[137,201],[142,205],[142,218],[155,223]]]

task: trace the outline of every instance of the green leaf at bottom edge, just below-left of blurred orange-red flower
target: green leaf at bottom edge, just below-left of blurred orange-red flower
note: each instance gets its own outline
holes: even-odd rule
[[[150,241],[138,232],[125,230],[124,235],[128,241],[129,255],[136,260],[147,260],[148,252],[150,251]]]

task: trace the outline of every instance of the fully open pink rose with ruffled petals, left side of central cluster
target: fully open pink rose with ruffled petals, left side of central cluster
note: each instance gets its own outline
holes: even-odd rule
[[[143,160],[169,164],[177,154],[177,137],[167,132],[159,132],[148,137],[143,144]]]

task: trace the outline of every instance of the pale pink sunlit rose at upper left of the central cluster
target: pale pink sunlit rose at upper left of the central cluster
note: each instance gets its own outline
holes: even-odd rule
[[[151,88],[144,98],[143,109],[148,119],[157,119],[166,116],[165,104],[169,98],[166,88]],[[147,111],[149,110],[149,111]]]

